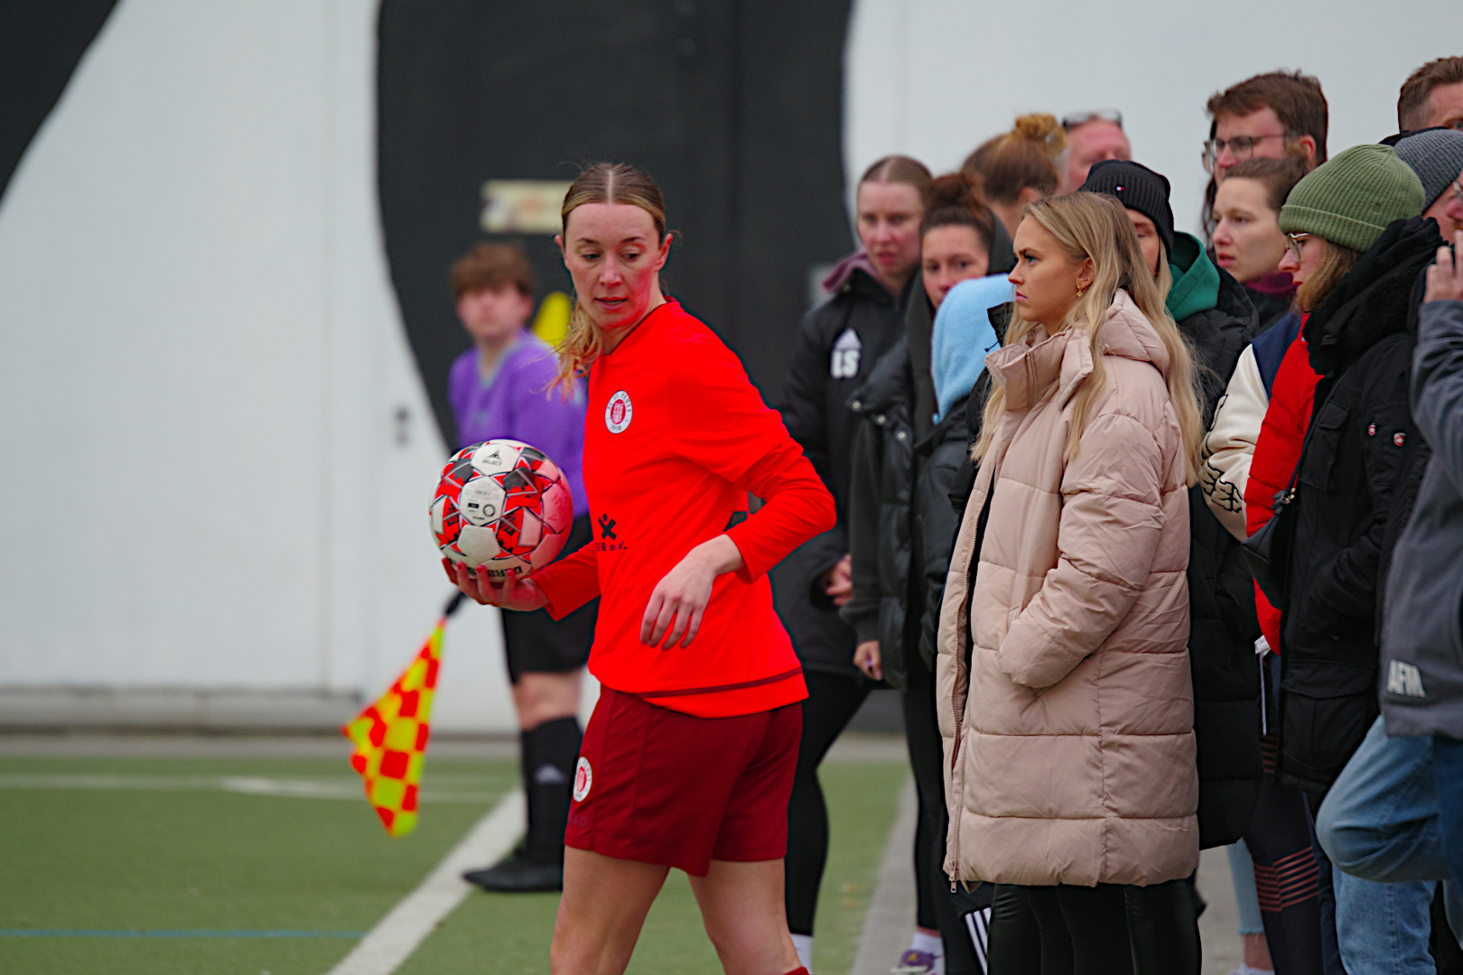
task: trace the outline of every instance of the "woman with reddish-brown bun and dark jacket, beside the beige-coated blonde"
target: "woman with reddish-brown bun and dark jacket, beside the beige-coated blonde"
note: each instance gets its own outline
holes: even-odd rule
[[[843,618],[853,624],[859,637],[854,664],[870,680],[882,678],[898,688],[904,707],[920,803],[914,835],[917,930],[894,971],[910,975],[935,971],[941,955],[935,949],[939,947],[944,949],[945,972],[985,971],[983,952],[974,950],[961,915],[982,911],[989,898],[957,902],[939,868],[945,836],[944,779],[935,725],[933,656],[929,648],[922,652],[920,631],[928,564],[932,560],[944,563],[955,529],[948,500],[952,469],[926,471],[925,459],[932,441],[955,440],[960,453],[969,444],[963,399],[958,411],[947,411],[958,415],[947,415],[948,422],[935,424],[929,313],[930,306],[938,310],[944,304],[951,288],[992,270],[998,227],[970,177],[952,172],[935,180],[919,228],[920,282],[911,297],[911,303],[926,308],[925,316],[917,319],[911,306],[904,336],[849,402],[862,422],[853,452],[850,500],[853,596],[843,608]],[[1008,243],[1005,250],[1009,251]],[[1002,266],[996,270],[1005,270],[1009,259],[998,260]],[[985,346],[996,345],[989,323],[986,332],[989,342],[963,349],[963,355],[976,361],[983,358]],[[936,368],[942,365],[945,363],[935,364]],[[973,384],[974,374],[970,379]],[[938,474],[941,485],[926,488],[926,474]],[[933,510],[925,512],[922,500],[929,496],[938,501]],[[938,577],[944,580],[942,569]],[[985,917],[979,924],[983,928]]]

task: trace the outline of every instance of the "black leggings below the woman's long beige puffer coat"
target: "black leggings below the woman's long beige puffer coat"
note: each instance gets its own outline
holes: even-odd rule
[[[996,884],[990,975],[1132,975],[1124,889]]]

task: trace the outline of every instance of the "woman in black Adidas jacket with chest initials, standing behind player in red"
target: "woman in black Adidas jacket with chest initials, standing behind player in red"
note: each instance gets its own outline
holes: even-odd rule
[[[853,629],[838,618],[851,593],[849,479],[857,417],[849,412],[849,398],[903,332],[919,287],[919,227],[929,187],[929,170],[909,156],[885,156],[863,172],[856,194],[859,250],[834,268],[824,281],[831,297],[803,319],[783,392],[787,428],[838,510],[832,531],[800,547],[772,573],[777,612],[808,681],[787,813],[787,924],[799,957],[809,966],[828,858],[828,810],[818,766],[875,687],[854,668]]]

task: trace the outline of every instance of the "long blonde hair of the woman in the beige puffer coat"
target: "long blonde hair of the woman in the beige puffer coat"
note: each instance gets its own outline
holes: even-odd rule
[[[1178,323],[1163,304],[1173,282],[1167,260],[1159,260],[1159,275],[1154,279],[1154,275],[1148,273],[1147,262],[1138,246],[1138,235],[1134,232],[1122,203],[1106,194],[1055,196],[1027,205],[1023,216],[1036,221],[1049,232],[1071,260],[1081,262],[1090,257],[1093,262],[1091,285],[1062,320],[1064,329],[1086,329],[1088,332],[1093,357],[1093,371],[1083,380],[1074,401],[1072,425],[1067,437],[1067,459],[1071,460],[1077,456],[1083,430],[1087,425],[1087,414],[1106,386],[1107,373],[1103,365],[1099,330],[1102,323],[1107,320],[1107,308],[1112,306],[1113,297],[1122,288],[1153,325],[1169,354],[1169,401],[1173,403],[1173,414],[1184,439],[1186,481],[1192,485],[1198,478],[1204,422],[1194,384],[1194,355],[1189,352]],[[1024,322],[1014,316],[1007,327],[1005,345],[1024,341],[1036,327],[1036,322]],[[986,401],[980,440],[971,450],[971,456],[977,460],[990,447],[1002,414],[1005,414],[1005,386],[996,383],[990,390],[990,399]]]

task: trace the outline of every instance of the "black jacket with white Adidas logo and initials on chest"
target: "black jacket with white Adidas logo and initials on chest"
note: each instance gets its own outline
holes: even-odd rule
[[[803,667],[859,677],[853,629],[838,618],[819,580],[849,551],[849,478],[859,433],[849,399],[903,333],[909,288],[895,298],[860,254],[844,259],[830,282],[832,297],[803,317],[783,392],[783,421],[832,494],[838,525],[772,570],[772,592]]]

